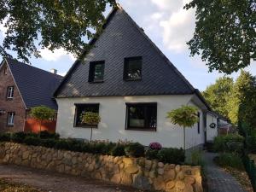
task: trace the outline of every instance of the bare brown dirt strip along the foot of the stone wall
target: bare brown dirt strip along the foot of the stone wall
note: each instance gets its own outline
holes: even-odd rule
[[[0,178],[12,183],[24,183],[47,192],[138,192],[131,187],[99,180],[45,172],[23,166],[0,165]]]

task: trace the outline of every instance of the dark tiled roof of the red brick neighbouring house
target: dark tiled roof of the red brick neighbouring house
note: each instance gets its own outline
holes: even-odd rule
[[[26,108],[40,105],[54,109],[58,108],[53,93],[61,83],[62,76],[14,59],[5,58],[5,60],[20,90]]]

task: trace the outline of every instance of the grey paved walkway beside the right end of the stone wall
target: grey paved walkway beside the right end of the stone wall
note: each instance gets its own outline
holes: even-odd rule
[[[207,152],[203,154],[206,166],[208,192],[245,192],[245,190],[241,188],[240,183],[236,181],[236,178],[224,172],[224,170],[214,164],[213,158],[215,156],[217,156],[217,154]]]

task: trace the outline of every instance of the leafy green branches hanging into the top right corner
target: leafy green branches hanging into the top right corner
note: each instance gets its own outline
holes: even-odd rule
[[[256,60],[255,0],[192,0],[196,9],[190,54],[201,55],[209,71],[230,74]]]

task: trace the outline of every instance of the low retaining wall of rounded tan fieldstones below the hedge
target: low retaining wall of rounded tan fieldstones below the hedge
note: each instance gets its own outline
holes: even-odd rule
[[[90,176],[137,189],[201,192],[201,167],[163,164],[144,158],[83,154],[53,148],[0,143],[0,163]]]

